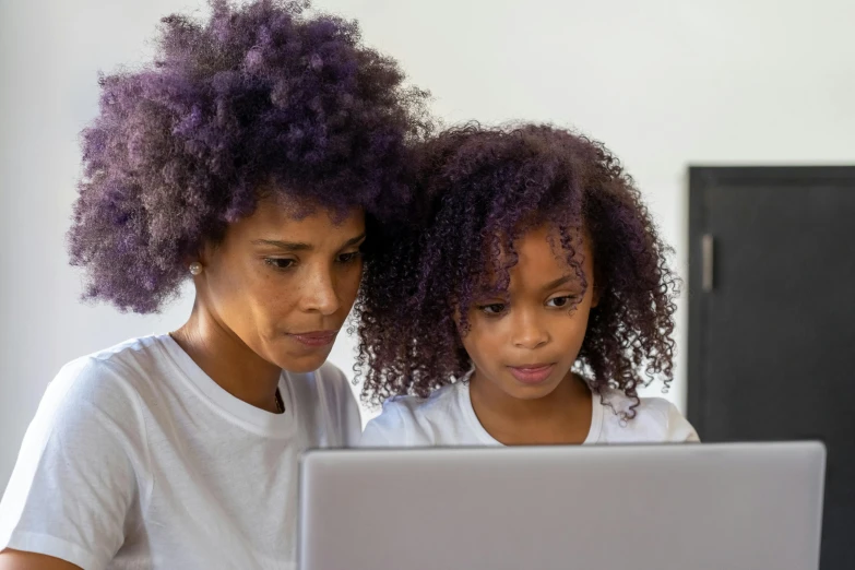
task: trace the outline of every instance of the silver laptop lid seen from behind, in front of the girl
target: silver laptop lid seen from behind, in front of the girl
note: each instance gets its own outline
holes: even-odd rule
[[[300,570],[817,570],[821,443],[311,451]]]

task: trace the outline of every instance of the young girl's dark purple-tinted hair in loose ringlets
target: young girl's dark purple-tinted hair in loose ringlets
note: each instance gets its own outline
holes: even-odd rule
[[[485,275],[507,286],[513,241],[557,228],[571,268],[590,238],[599,304],[577,367],[599,394],[673,378],[677,280],[631,178],[599,143],[549,126],[467,124],[425,143],[418,156],[416,224],[383,239],[357,302],[357,367],[364,399],[426,396],[471,367],[461,343]],[[500,252],[510,252],[501,256]],[[460,328],[454,321],[459,310]],[[633,406],[634,407],[634,406]]]

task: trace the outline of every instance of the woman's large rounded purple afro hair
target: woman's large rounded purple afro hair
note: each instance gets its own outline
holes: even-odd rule
[[[430,130],[427,93],[363,46],[355,22],[306,1],[211,2],[162,20],[156,58],[99,80],[82,133],[68,234],[84,298],[155,312],[185,260],[253,212],[260,189],[369,222],[411,195],[409,144]]]

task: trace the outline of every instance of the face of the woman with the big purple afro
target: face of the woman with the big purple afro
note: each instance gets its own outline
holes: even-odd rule
[[[293,372],[318,369],[356,300],[365,215],[295,215],[274,199],[205,248],[197,309],[264,360]]]

